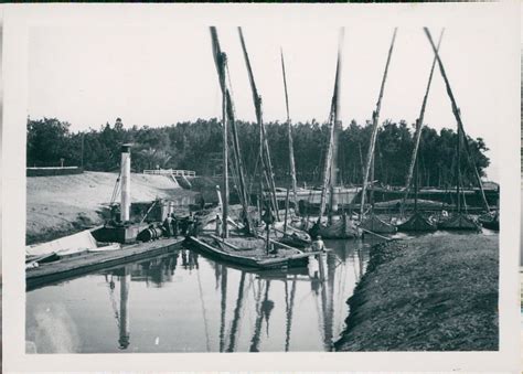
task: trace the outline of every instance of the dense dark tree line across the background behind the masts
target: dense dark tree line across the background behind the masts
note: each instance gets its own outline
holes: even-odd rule
[[[259,129],[237,121],[242,154],[248,174],[259,170]],[[286,125],[266,125],[277,180],[289,180]],[[319,183],[328,143],[328,127],[316,120],[292,125],[296,168],[299,182]],[[377,136],[375,179],[384,184],[403,185],[413,149],[414,125],[385,121]],[[370,122],[355,121],[340,133],[338,167],[345,184],[360,184],[371,137]],[[425,127],[419,151],[419,179],[423,185],[449,185],[455,182],[457,133]],[[463,184],[474,184],[471,160],[481,175],[489,165],[483,139],[467,139],[471,159],[461,158]],[[222,173],[222,128],[215,118],[151,128],[125,128],[118,118],[111,126],[72,133],[70,124],[56,118],[28,120],[28,165],[83,165],[86,170],[114,171],[119,165],[119,146],[132,143],[132,169],[188,169],[198,174]],[[465,152],[463,152],[465,154]]]

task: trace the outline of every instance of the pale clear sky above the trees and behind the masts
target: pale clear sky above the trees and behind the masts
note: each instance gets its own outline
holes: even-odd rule
[[[217,28],[237,117],[255,120],[236,28]],[[280,49],[286,61],[290,117],[327,120],[333,89],[339,28],[299,22],[244,26],[266,121],[285,121]],[[441,29],[433,28],[433,39]],[[343,124],[363,124],[375,109],[393,28],[344,29],[340,109]],[[490,148],[488,177],[499,178],[505,50],[485,24],[446,29],[440,47],[465,129]],[[399,26],[382,103],[381,120],[413,124],[419,115],[434,53],[419,26]],[[73,131],[120,117],[126,127],[151,127],[221,116],[221,95],[209,28],[34,26],[29,35],[29,116],[56,117]],[[436,70],[425,124],[456,129],[445,84]]]

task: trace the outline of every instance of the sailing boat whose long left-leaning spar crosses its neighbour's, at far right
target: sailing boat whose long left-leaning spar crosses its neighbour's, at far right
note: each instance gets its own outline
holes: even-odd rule
[[[461,142],[465,145],[466,151],[468,152],[468,156],[469,156],[469,161],[472,163],[474,174],[476,174],[477,181],[479,183],[479,186],[480,186],[480,190],[481,190],[481,195],[483,197],[483,203],[487,207],[487,211],[490,211],[489,203],[487,202],[487,197],[484,196],[483,185],[481,183],[481,178],[478,173],[478,169],[476,168],[476,164],[473,163],[473,161],[470,159],[470,152],[469,152],[469,149],[468,149],[468,142],[467,142],[467,138],[466,138],[466,135],[465,135],[463,124],[461,121],[461,115],[459,113],[458,106],[456,105],[456,99],[453,97],[452,89],[450,88],[450,84],[449,84],[449,81],[447,78],[447,74],[445,73],[444,64],[441,62],[441,58],[439,57],[438,50],[437,50],[436,45],[434,44],[430,32],[428,31],[427,28],[424,28],[424,30],[425,30],[425,33],[426,33],[429,42],[430,42],[430,45],[433,46],[435,57],[438,61],[439,71],[441,73],[441,76],[444,77],[445,85],[447,87],[447,94],[448,94],[448,96],[450,98],[450,103],[452,105],[452,113],[456,117],[456,121],[458,122],[458,136],[457,136],[457,140],[456,140],[457,211],[456,211],[456,213],[451,214],[447,220],[440,222],[438,224],[438,228],[441,228],[441,229],[479,231],[480,225],[476,221],[473,221],[468,214],[465,214],[465,213],[461,212],[461,196],[460,196],[460,184],[461,184],[461,152],[460,152],[460,149],[461,149]]]

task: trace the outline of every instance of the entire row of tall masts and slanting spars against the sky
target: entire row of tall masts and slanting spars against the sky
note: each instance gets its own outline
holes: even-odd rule
[[[460,182],[461,182],[461,171],[460,171],[460,164],[461,164],[461,143],[465,146],[466,153],[468,154],[468,161],[472,165],[472,170],[474,172],[474,177],[477,179],[478,185],[481,190],[481,196],[483,200],[483,204],[487,211],[490,211],[489,204],[487,202],[480,174],[478,172],[478,169],[474,164],[474,161],[471,158],[470,149],[469,149],[469,143],[467,141],[467,136],[463,129],[463,124],[461,120],[461,115],[459,111],[459,108],[456,104],[456,99],[453,97],[452,90],[450,88],[449,81],[447,78],[441,58],[439,56],[439,46],[441,43],[442,39],[442,31],[441,35],[439,38],[438,45],[436,46],[435,43],[433,42],[430,32],[427,28],[424,29],[429,43],[434,50],[434,61],[433,65],[430,68],[430,74],[426,87],[426,92],[423,98],[423,104],[419,113],[419,117],[416,119],[416,130],[415,130],[415,143],[412,152],[412,158],[410,162],[408,165],[408,171],[406,175],[406,185],[405,185],[405,196],[403,199],[403,204],[402,204],[402,212],[404,212],[404,204],[405,201],[408,196],[408,193],[410,191],[410,186],[413,184],[414,180],[414,194],[415,194],[415,211],[417,211],[417,193],[418,193],[418,188],[417,188],[417,174],[418,174],[418,162],[417,162],[417,154],[418,150],[420,147],[420,138],[421,138],[421,129],[423,129],[423,121],[424,121],[424,116],[425,116],[425,110],[427,106],[427,99],[428,99],[428,94],[430,90],[430,85],[434,76],[434,70],[436,66],[436,63],[439,65],[439,70],[441,72],[441,76],[444,77],[446,88],[447,88],[447,94],[450,98],[451,101],[451,107],[452,107],[452,114],[455,115],[456,121],[458,124],[458,140],[457,140],[457,149],[456,149],[456,156],[457,156],[457,163],[456,163],[456,172],[457,172],[457,194],[458,194],[458,201],[457,201],[457,210],[458,212],[461,210],[461,202],[460,202]],[[332,211],[335,210],[337,203],[335,203],[335,193],[334,193],[334,188],[337,185],[337,172],[338,172],[338,167],[337,167],[337,150],[338,150],[338,133],[339,133],[339,127],[340,127],[340,120],[339,120],[339,113],[340,113],[340,85],[341,85],[341,56],[342,56],[342,45],[343,45],[343,28],[340,31],[340,36],[339,36],[339,47],[338,47],[338,58],[337,58],[337,68],[335,68],[335,78],[334,78],[334,90],[332,95],[332,100],[331,100],[331,107],[330,107],[330,114],[329,114],[329,145],[328,145],[328,150],[327,150],[327,157],[323,165],[323,183],[322,183],[322,189],[321,189],[321,200],[320,200],[320,212],[319,212],[319,217],[318,222],[321,222],[324,213],[325,213],[325,207],[327,207],[327,195],[330,195],[330,213],[329,213],[329,221],[331,221],[332,217]],[[374,161],[375,161],[375,145],[376,145],[376,138],[377,138],[377,130],[380,127],[380,111],[382,107],[382,99],[384,96],[384,90],[385,90],[385,83],[387,78],[387,73],[393,55],[393,50],[394,50],[394,43],[396,40],[396,34],[397,34],[397,28],[394,29],[391,45],[388,49],[388,54],[387,54],[387,60],[385,64],[385,70],[383,73],[382,77],[382,83],[380,87],[380,93],[376,101],[376,107],[375,110],[372,113],[372,133],[371,133],[371,140],[370,140],[370,146],[366,154],[366,160],[364,163],[364,170],[363,170],[363,186],[362,186],[362,192],[361,192],[361,203],[360,203],[360,217],[363,218],[364,213],[365,213],[365,199],[366,199],[366,192],[369,189],[369,185],[373,183],[374,180]],[[279,217],[279,212],[278,212],[278,202],[276,199],[276,184],[275,184],[275,175],[273,172],[273,164],[270,160],[270,150],[267,141],[267,135],[266,135],[266,129],[265,129],[265,124],[263,119],[263,101],[262,101],[262,96],[259,95],[255,78],[254,78],[254,73],[253,68],[250,65],[250,60],[249,55],[247,53],[247,47],[246,47],[246,42],[245,38],[242,31],[242,28],[238,28],[238,35],[239,35],[239,41],[243,50],[243,55],[245,58],[245,64],[247,67],[247,73],[248,73],[248,79],[250,84],[250,89],[252,89],[252,96],[253,96],[253,103],[254,103],[254,108],[256,113],[256,121],[259,128],[259,150],[258,150],[258,160],[260,161],[262,164],[262,172],[260,172],[260,178],[259,178],[259,188],[260,188],[260,194],[264,193],[264,184],[267,186],[268,191],[268,206],[266,209],[270,212],[274,212],[275,218],[277,221],[280,221]],[[228,181],[228,170],[231,168],[233,175],[238,180],[238,195],[239,200],[243,206],[243,212],[244,212],[244,220],[245,224],[248,231],[253,229],[252,223],[249,221],[249,215],[248,215],[248,205],[249,205],[249,194],[247,193],[247,188],[246,188],[246,179],[245,179],[245,171],[243,168],[242,163],[242,157],[241,157],[241,150],[239,150],[239,142],[238,142],[238,136],[237,136],[237,130],[235,126],[235,115],[234,115],[234,104],[233,104],[233,97],[232,97],[232,89],[230,87],[230,79],[228,79],[228,70],[227,70],[227,58],[226,54],[222,52],[220,47],[220,42],[217,38],[217,32],[214,26],[211,28],[211,38],[212,38],[212,44],[213,44],[213,55],[214,55],[214,61],[216,64],[216,70],[218,73],[218,79],[220,79],[220,86],[222,90],[222,125],[223,125],[223,141],[224,141],[224,150],[223,150],[223,222],[227,222],[227,215],[228,215],[228,192],[230,192],[230,181]],[[297,206],[298,202],[298,196],[297,196],[297,179],[296,179],[296,164],[295,164],[295,158],[293,158],[293,146],[292,146],[292,127],[291,127],[291,120],[290,120],[290,113],[289,113],[289,97],[288,97],[288,90],[287,90],[287,78],[286,78],[286,70],[285,70],[285,61],[284,61],[284,53],[281,51],[281,70],[282,70],[282,78],[284,78],[284,87],[285,87],[285,100],[286,100],[286,111],[287,111],[287,135],[288,135],[288,149],[289,149],[289,173],[290,173],[290,190],[292,192],[292,201],[295,206]],[[231,129],[230,129],[231,127]],[[228,138],[230,138],[230,131],[232,133],[232,143],[233,143],[233,164],[230,167],[230,150],[228,150]],[[288,190],[289,190],[288,188]],[[262,196],[262,200],[263,196]],[[286,207],[288,206],[288,200],[289,196],[287,197],[287,203]],[[371,188],[371,195],[370,195],[370,203],[371,206],[373,204],[373,197],[372,197],[372,188]],[[264,206],[260,206],[263,209]],[[288,209],[288,207],[287,207]],[[286,212],[287,212],[286,209]],[[287,213],[286,213],[286,221],[287,221]],[[228,231],[227,231],[227,225],[224,225],[224,231],[223,231],[223,236],[227,237],[228,236]]]

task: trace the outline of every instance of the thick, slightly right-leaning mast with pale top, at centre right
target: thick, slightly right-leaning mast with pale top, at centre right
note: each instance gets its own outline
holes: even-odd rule
[[[338,110],[339,110],[339,94],[340,94],[340,77],[341,77],[341,52],[343,47],[343,36],[344,36],[344,29],[340,29],[340,39],[338,44],[338,60],[335,66],[335,78],[334,78],[334,93],[332,94],[332,101],[331,101],[331,110],[329,115],[329,146],[327,149],[327,157],[325,157],[325,164],[323,168],[323,185],[321,189],[321,202],[320,202],[320,214],[318,216],[318,222],[321,222],[323,217],[323,213],[325,212],[325,204],[327,204],[327,190],[331,184],[331,161],[332,161],[332,152],[333,152],[333,141],[334,141],[334,130],[335,130],[335,122],[338,120]],[[332,191],[331,191],[332,193]]]

